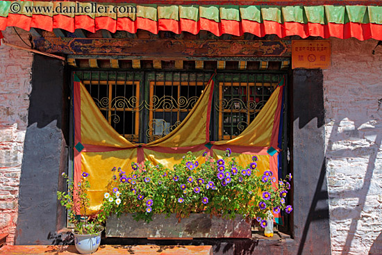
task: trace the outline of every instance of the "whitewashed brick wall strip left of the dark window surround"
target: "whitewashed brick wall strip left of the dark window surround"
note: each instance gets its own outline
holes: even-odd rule
[[[17,28],[28,43],[28,33]],[[26,45],[13,28],[3,31],[6,42]],[[17,199],[24,136],[28,124],[33,54],[0,47],[0,233],[9,233],[13,243],[17,222]]]

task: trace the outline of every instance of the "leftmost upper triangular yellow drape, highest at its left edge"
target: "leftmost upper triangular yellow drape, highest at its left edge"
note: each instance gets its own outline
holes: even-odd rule
[[[81,143],[108,147],[129,148],[134,145],[119,135],[106,121],[88,90],[81,86]]]

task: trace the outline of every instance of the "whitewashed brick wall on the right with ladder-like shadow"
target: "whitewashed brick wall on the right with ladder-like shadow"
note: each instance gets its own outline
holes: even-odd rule
[[[332,254],[382,254],[382,47],[373,55],[376,40],[331,42],[324,104]]]

